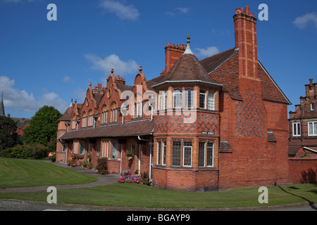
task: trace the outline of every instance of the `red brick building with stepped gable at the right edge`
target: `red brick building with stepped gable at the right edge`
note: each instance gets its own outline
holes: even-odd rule
[[[317,83],[309,79],[305,84],[305,96],[290,111],[290,157],[317,158]]]

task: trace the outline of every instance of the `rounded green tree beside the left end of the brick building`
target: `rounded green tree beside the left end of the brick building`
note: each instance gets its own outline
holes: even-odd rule
[[[58,119],[61,117],[56,108],[44,105],[40,108],[26,127],[23,140],[26,144],[40,143],[48,146],[50,141],[56,141]]]

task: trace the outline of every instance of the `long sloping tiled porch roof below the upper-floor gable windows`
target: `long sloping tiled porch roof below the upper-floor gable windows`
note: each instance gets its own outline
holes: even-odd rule
[[[68,131],[62,134],[58,139],[95,139],[101,137],[119,137],[119,136],[142,136],[151,134],[153,131],[153,120],[132,120],[130,122],[108,124],[99,127],[89,127]]]

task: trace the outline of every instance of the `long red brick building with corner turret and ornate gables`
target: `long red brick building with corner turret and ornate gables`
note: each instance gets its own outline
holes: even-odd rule
[[[134,86],[114,71],[106,87],[89,84],[59,120],[57,161],[108,158],[111,173],[147,172],[154,187],[183,191],[288,183],[290,101],[257,59],[249,7],[233,18],[232,49],[199,61],[187,37],[166,45],[159,77],[140,67]]]

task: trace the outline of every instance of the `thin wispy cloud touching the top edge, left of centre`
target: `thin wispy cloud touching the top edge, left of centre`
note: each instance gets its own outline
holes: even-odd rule
[[[110,13],[114,13],[122,20],[137,20],[140,15],[135,6],[126,6],[118,1],[104,0],[101,1],[100,7]]]

